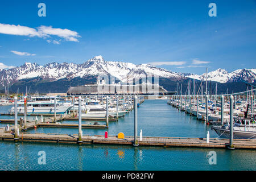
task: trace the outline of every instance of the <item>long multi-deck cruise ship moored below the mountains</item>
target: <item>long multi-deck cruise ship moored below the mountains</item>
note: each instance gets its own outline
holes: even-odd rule
[[[150,83],[137,85],[93,84],[71,86],[67,92],[68,96],[87,94],[170,94],[170,92],[167,92],[163,86]]]

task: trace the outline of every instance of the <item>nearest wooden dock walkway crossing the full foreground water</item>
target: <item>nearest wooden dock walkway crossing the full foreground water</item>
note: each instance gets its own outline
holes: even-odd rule
[[[2,140],[14,140],[13,133],[5,133],[0,129],[0,138]],[[78,135],[68,134],[42,134],[42,133],[20,133],[18,141],[26,142],[53,142],[53,143],[77,143]],[[105,139],[103,135],[83,135],[84,144],[127,144],[132,145],[133,137],[118,139],[117,136],[109,136]],[[234,139],[234,148],[256,149],[255,139]],[[163,147],[206,147],[206,148],[226,148],[229,146],[229,139],[210,139],[207,143],[206,138],[177,138],[177,137],[143,137],[138,140],[141,146],[163,146]]]

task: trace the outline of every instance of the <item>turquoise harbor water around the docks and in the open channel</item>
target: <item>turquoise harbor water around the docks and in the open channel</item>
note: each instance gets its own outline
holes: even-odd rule
[[[109,123],[109,135],[133,135],[134,113]],[[0,118],[2,118],[0,116]],[[76,121],[64,121],[75,123]],[[83,122],[93,123],[93,122]],[[99,122],[104,123],[104,122]],[[205,123],[167,105],[164,100],[145,100],[138,108],[138,130],[143,136],[217,137]],[[103,135],[106,129],[83,129],[83,134]],[[78,129],[43,128],[28,132],[77,134]],[[138,131],[139,133],[139,131]],[[0,142],[2,170],[255,170],[254,150],[217,148],[133,147],[116,145]],[[46,152],[46,164],[38,164],[38,152]],[[208,152],[217,164],[210,165]]]

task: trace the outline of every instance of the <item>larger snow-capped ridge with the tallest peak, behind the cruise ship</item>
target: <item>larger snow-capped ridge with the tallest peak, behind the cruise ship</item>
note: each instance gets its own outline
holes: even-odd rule
[[[35,77],[55,81],[61,78],[84,78],[98,75],[111,75],[121,81],[131,81],[133,78],[146,77],[150,74],[166,78],[183,78],[178,73],[156,68],[150,64],[135,65],[121,61],[105,61],[102,56],[96,56],[82,64],[53,62],[41,66],[36,63],[25,63],[20,67],[2,69],[0,71],[0,84],[6,86],[7,82],[14,84],[19,80]]]

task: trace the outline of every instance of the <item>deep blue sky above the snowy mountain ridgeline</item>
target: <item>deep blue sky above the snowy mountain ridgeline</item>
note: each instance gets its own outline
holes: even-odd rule
[[[40,2],[46,4],[46,17],[38,16]],[[208,15],[211,2],[217,17]],[[2,68],[25,61],[84,63],[97,55],[198,74],[205,67],[256,68],[252,0],[1,1],[0,23]],[[19,28],[18,33],[9,28]]]

